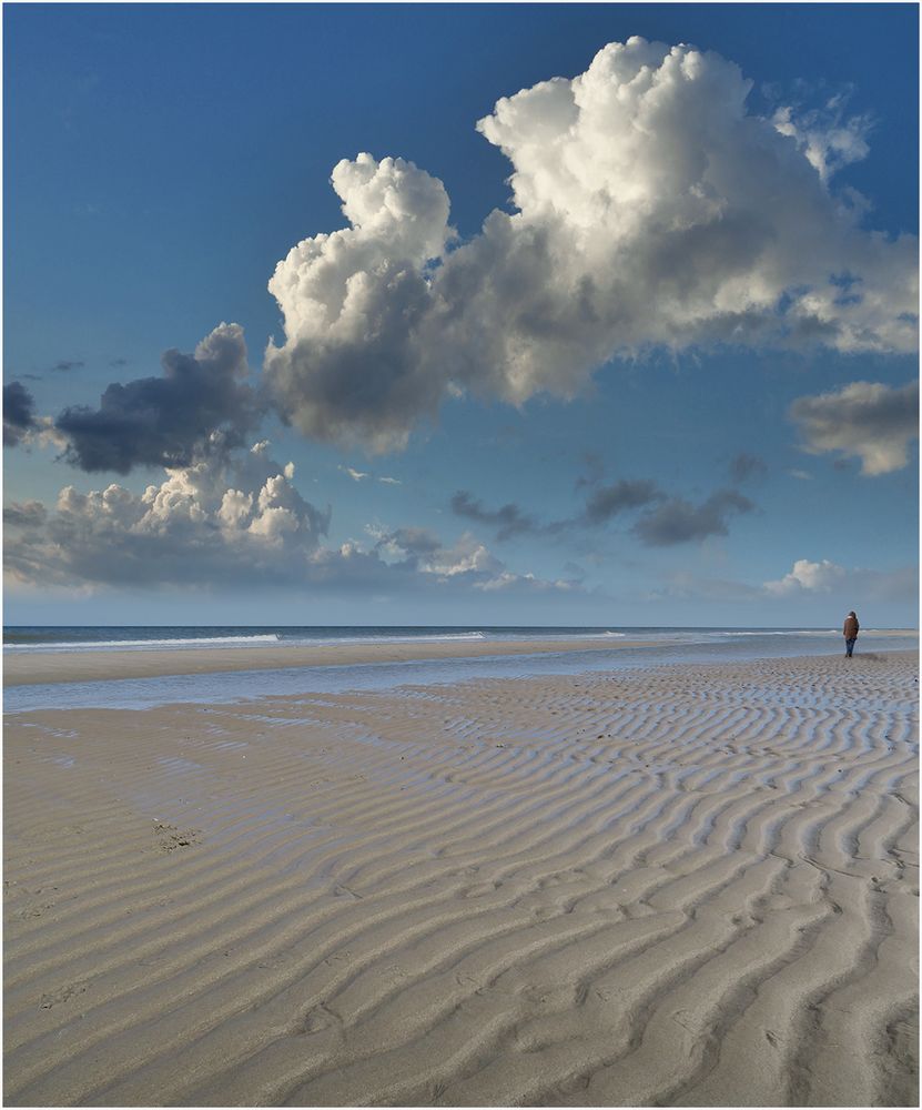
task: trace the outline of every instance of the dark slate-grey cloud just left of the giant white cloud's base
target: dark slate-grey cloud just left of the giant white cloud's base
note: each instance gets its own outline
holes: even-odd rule
[[[215,440],[237,446],[261,416],[243,329],[221,324],[194,354],[166,351],[162,377],[113,382],[99,408],[65,408],[54,426],[80,470],[128,474],[134,466],[186,466]]]

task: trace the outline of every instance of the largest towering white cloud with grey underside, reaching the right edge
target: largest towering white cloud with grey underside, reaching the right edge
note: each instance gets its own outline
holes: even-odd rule
[[[914,350],[915,239],[865,232],[830,191],[864,123],[748,114],[750,84],[719,54],[632,38],[501,99],[478,130],[513,165],[516,211],[454,249],[439,181],[341,162],[351,226],[305,239],[270,282],[280,412],[385,451],[446,395],[569,397],[651,344]]]

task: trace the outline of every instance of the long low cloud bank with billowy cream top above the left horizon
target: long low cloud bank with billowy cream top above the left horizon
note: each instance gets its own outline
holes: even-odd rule
[[[332,508],[297,491],[293,463],[266,441],[166,471],[136,494],[118,483],[61,490],[57,505],[12,503],[4,568],[29,585],[156,589],[245,587],[307,593],[464,596],[573,593],[573,578],[517,573],[470,533],[446,543],[428,528],[374,526],[366,542],[328,546]]]

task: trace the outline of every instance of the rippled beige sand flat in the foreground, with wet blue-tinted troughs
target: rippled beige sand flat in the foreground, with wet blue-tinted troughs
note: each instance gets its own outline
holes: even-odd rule
[[[7,1104],[914,1106],[916,675],[10,718]]]

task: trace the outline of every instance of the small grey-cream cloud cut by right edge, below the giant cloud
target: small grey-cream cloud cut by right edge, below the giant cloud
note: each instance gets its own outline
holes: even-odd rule
[[[902,470],[919,435],[919,383],[900,387],[852,382],[840,390],[799,397],[789,408],[804,451],[838,452],[861,460],[869,477]]]

